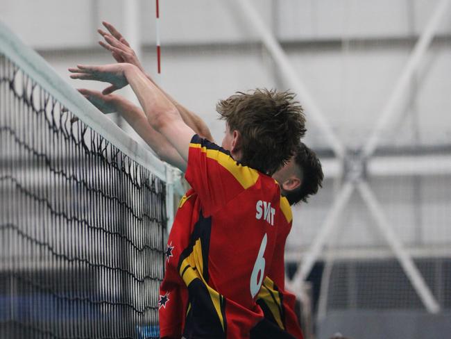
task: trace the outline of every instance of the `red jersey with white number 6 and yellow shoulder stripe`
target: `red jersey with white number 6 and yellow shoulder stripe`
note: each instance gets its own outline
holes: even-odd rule
[[[248,338],[263,317],[255,299],[278,227],[289,223],[279,186],[198,135],[185,177],[193,189],[169,235],[160,335],[177,337],[182,329],[188,339]]]

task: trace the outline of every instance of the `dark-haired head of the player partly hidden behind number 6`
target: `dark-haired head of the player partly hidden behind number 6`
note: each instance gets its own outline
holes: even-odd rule
[[[282,195],[293,205],[300,201],[307,202],[310,195],[316,195],[322,187],[324,175],[315,152],[299,142],[287,165],[275,172],[273,178],[280,184]]]

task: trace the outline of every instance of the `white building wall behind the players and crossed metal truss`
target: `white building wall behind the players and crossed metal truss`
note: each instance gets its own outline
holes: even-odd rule
[[[393,90],[415,39],[434,10],[436,0],[254,0],[259,13],[282,42],[299,76],[351,149],[371,133]],[[103,88],[68,78],[76,63],[109,63],[96,45],[101,19],[124,28],[119,0],[0,0],[0,19],[38,49],[74,87]],[[143,61],[155,74],[155,3],[142,1]],[[216,119],[218,99],[255,87],[284,88],[271,58],[255,44],[257,36],[239,13],[235,1],[160,1],[162,87],[205,119],[214,138],[221,139],[223,123]],[[451,144],[451,10],[439,26],[398,122],[384,133],[388,147]],[[302,103],[302,98],[300,98]],[[309,112],[306,112],[309,120]],[[328,147],[312,124],[305,139],[314,149]],[[327,176],[327,172],[326,172]],[[450,243],[449,176],[371,181],[377,197],[402,240],[410,244]],[[416,186],[415,186],[416,187]],[[312,241],[332,204],[334,184],[308,205],[296,208],[289,248]],[[415,200],[414,197],[420,197]],[[341,221],[348,233],[345,245],[381,245],[383,240],[358,197]],[[418,213],[418,209],[420,213]],[[419,225],[419,226],[418,226]]]

